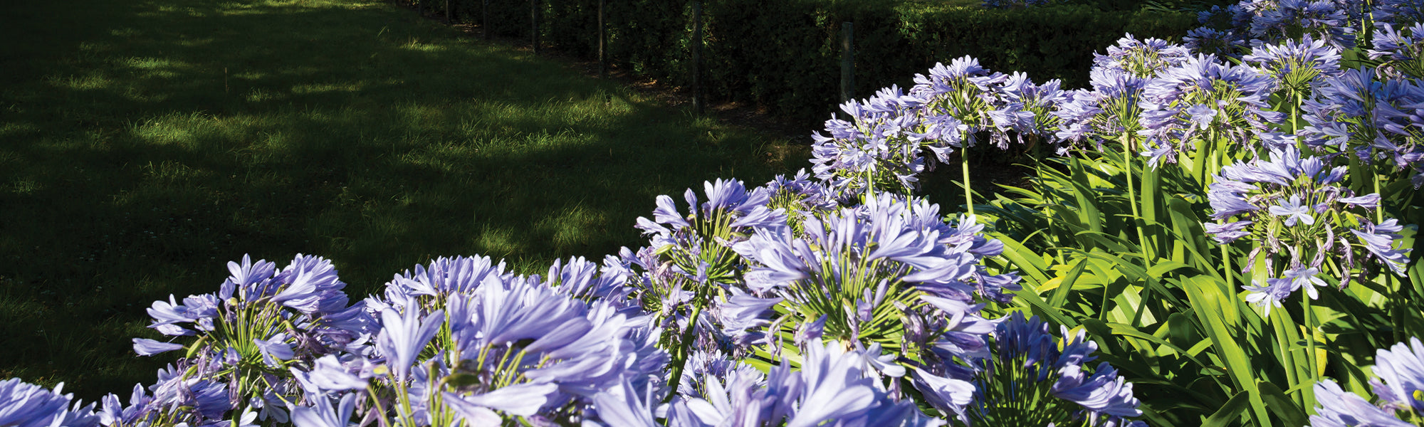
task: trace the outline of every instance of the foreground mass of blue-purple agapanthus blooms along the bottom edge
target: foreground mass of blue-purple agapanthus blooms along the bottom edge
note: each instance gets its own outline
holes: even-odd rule
[[[983,263],[1004,245],[924,199],[834,195],[805,172],[719,179],[686,209],[656,198],[649,246],[601,265],[440,258],[356,302],[326,259],[244,256],[216,292],[148,310],[169,339],[134,350],[182,353],[154,384],[85,406],[10,380],[0,424],[946,426],[1027,390],[997,373],[1048,326],[984,317],[1020,289]],[[1094,344],[1065,344],[1035,356],[1044,406],[993,413],[1141,414],[1111,366],[1082,366]]]

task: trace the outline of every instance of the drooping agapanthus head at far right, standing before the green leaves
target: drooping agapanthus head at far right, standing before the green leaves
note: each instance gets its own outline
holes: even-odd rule
[[[1324,285],[1317,276],[1326,262],[1350,272],[1356,259],[1370,256],[1403,273],[1407,251],[1394,248],[1398,235],[1393,233],[1400,228],[1390,219],[1381,231],[1361,215],[1378,208],[1378,195],[1356,196],[1341,184],[1344,178],[1346,167],[1327,168],[1323,158],[1302,157],[1292,145],[1272,151],[1269,159],[1237,162],[1216,175],[1208,199],[1212,216],[1222,222],[1208,225],[1208,233],[1223,245],[1246,236],[1262,242],[1246,269],[1257,256],[1265,258],[1267,269],[1283,265],[1279,279],[1247,285],[1247,300],[1269,310],[1302,288],[1316,297],[1314,286]],[[1349,280],[1347,273],[1340,286]]]

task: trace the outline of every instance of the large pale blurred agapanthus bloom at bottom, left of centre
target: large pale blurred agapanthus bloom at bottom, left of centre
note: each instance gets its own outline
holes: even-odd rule
[[[618,272],[625,266],[614,262],[605,279],[597,265],[575,258],[555,262],[545,279],[504,275],[487,259],[461,262],[481,259],[439,262],[387,283],[399,288],[386,292],[399,303],[369,303],[380,316],[373,346],[290,369],[305,391],[293,418],[333,426],[352,417],[402,426],[577,423],[592,396],[609,387],[662,386],[668,357],[656,347],[658,334],[628,309],[625,290],[614,289],[629,278]],[[412,282],[436,289],[439,305],[412,297]],[[342,399],[342,408],[330,407],[332,397]]]

